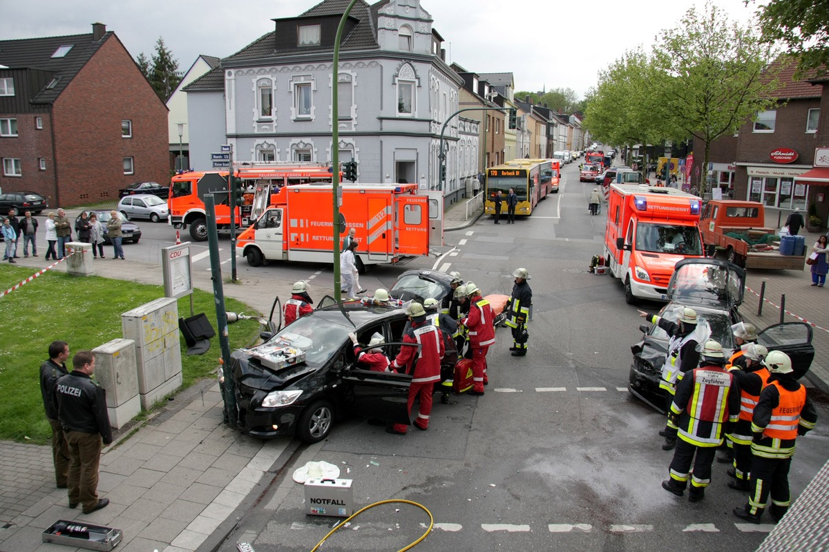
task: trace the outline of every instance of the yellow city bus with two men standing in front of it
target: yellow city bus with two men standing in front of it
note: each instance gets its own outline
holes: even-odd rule
[[[541,199],[545,199],[550,191],[558,191],[558,182],[553,188],[554,170],[550,159],[515,159],[503,165],[487,169],[486,197],[484,212],[495,214],[493,198],[501,190],[504,200],[510,188],[518,196],[516,214],[530,215]],[[555,170],[558,179],[559,170]],[[502,204],[501,212],[507,213],[507,205]]]

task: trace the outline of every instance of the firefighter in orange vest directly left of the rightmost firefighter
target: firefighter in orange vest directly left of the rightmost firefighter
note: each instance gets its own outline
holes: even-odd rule
[[[741,368],[738,364],[729,369],[739,386],[739,421],[725,435],[734,449],[734,468],[728,474],[735,481],[730,481],[728,486],[738,491],[750,491],[751,416],[754,415],[760,391],[768,383],[768,368],[763,365],[768,349],[757,343],[749,343],[741,353],[739,363],[744,367]]]

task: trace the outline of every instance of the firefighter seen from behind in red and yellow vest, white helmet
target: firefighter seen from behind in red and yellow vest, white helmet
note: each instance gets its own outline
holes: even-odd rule
[[[688,499],[701,501],[711,481],[716,448],[723,442],[723,426],[736,422],[739,416],[739,389],[734,376],[725,371],[720,343],[713,339],[705,342],[700,367],[686,373],[676,386],[669,416],[679,428],[679,439],[671,461],[671,478],[662,482],[662,488],[681,497],[690,478]]]

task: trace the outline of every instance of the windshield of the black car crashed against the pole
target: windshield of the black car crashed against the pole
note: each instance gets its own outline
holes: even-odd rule
[[[325,315],[326,318],[313,315],[298,318],[271,338],[269,343],[278,339],[289,347],[298,348],[305,353],[308,367],[322,367],[339,352],[348,333],[354,331],[345,314],[342,314],[342,323],[331,319],[332,316],[337,318],[337,310],[327,310]]]

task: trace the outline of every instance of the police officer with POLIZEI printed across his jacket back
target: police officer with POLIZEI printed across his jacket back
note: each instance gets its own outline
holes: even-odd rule
[[[102,444],[112,443],[112,428],[106,392],[92,379],[95,355],[91,351],[75,353],[72,367],[72,372],[58,378],[55,396],[69,447],[69,507],[80,502],[89,514],[109,504],[109,498],[98,498],[98,467]]]

